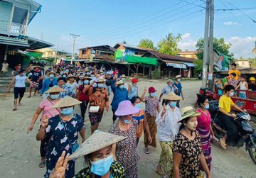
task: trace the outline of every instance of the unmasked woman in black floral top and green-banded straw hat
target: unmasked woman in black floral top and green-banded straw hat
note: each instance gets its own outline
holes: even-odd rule
[[[174,178],[199,176],[199,165],[202,166],[206,176],[210,177],[210,171],[206,164],[206,158],[202,152],[201,140],[196,131],[197,118],[201,113],[197,113],[191,106],[181,109],[180,132],[174,140]]]

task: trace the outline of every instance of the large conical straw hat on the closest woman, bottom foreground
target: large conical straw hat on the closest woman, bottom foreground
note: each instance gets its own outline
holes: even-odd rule
[[[72,155],[70,155],[69,160],[73,160],[78,157],[88,155],[92,152],[113,145],[114,143],[118,143],[119,141],[122,141],[125,138],[126,137],[123,136],[95,130],[95,132],[92,133],[92,135],[90,135],[90,137],[87,138],[87,140],[85,140],[85,142],[82,143],[82,145],[80,145],[78,150],[76,150]]]

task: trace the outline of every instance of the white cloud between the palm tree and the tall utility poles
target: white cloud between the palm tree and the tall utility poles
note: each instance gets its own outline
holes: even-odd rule
[[[178,48],[181,50],[196,50],[196,40],[191,38],[190,33],[181,35],[182,40],[178,42]]]

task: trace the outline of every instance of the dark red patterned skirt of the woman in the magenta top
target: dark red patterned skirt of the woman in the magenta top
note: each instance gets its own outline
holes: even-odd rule
[[[199,128],[199,127],[196,128],[196,130],[198,130],[198,133],[200,135],[203,155],[206,157],[206,163],[207,163],[208,168],[210,170],[210,162],[212,160],[212,157],[210,155],[210,153],[211,153],[210,130]]]

